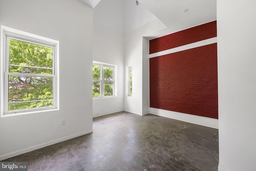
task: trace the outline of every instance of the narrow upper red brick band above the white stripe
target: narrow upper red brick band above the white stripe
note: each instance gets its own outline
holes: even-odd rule
[[[216,21],[188,28],[149,41],[149,54],[217,37]]]

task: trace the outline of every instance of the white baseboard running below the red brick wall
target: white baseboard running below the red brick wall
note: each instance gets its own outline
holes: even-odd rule
[[[152,113],[152,114],[158,115],[158,116],[168,117],[171,119],[176,119],[176,120],[180,120],[180,121],[185,121],[185,122],[194,123],[197,125],[202,125],[202,126],[218,129],[218,119],[190,115],[190,114],[186,114],[186,113],[179,113],[179,112],[168,111],[168,110],[163,110],[163,109],[156,109],[156,108],[152,108],[152,107],[149,108],[149,113]]]

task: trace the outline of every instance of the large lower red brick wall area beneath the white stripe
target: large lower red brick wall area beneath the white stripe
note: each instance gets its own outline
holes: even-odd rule
[[[217,71],[216,43],[150,58],[150,107],[218,119]]]

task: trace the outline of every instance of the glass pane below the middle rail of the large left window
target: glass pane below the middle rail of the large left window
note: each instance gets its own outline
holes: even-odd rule
[[[9,102],[53,99],[53,78],[9,76],[8,91]],[[23,109],[34,108],[23,105]]]

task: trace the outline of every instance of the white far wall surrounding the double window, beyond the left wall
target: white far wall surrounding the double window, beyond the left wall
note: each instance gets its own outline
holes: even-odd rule
[[[117,66],[117,96],[93,99],[96,117],[124,110],[123,2],[101,0],[93,14],[93,60]]]

